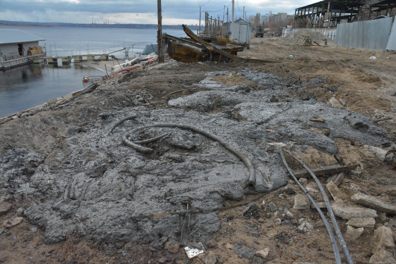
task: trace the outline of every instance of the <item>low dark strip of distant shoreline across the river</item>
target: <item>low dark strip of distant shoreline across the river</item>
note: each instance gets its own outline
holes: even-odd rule
[[[157,24],[75,24],[59,22],[25,22],[0,20],[0,25],[23,27],[84,27],[84,28],[142,28],[158,29]],[[187,25],[191,30],[197,30],[198,25]],[[181,25],[162,25],[162,29],[182,29]]]

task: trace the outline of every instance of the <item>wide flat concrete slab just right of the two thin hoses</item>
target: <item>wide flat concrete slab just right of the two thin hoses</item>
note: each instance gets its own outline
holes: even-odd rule
[[[350,218],[376,218],[377,211],[360,206],[345,205],[343,203],[332,203],[331,209],[336,217],[349,220]]]

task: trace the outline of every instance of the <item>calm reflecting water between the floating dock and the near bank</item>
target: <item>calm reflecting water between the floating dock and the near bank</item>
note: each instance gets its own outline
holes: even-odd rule
[[[82,89],[85,75],[103,72],[74,63],[29,64],[0,72],[0,117]]]

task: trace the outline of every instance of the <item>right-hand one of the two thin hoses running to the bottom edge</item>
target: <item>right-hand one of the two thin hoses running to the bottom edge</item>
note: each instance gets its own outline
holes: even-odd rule
[[[325,192],[322,184],[320,183],[320,181],[318,180],[316,175],[308,168],[308,166],[303,163],[303,161],[301,161],[297,157],[293,156],[293,154],[291,154],[287,150],[284,150],[284,152],[289,154],[293,159],[297,160],[301,165],[303,165],[303,167],[309,172],[309,174],[315,180],[316,184],[318,184],[320,193],[322,194],[324,202],[326,204],[326,208],[327,208],[327,211],[329,213],[329,216],[330,216],[330,219],[331,219],[331,223],[333,224],[333,228],[334,228],[335,234],[337,235],[338,241],[339,241],[339,243],[341,245],[341,249],[343,250],[346,262],[348,262],[348,264],[353,264],[352,257],[350,256],[348,247],[346,247],[346,243],[345,243],[344,237],[341,234],[340,228],[338,227],[337,220],[335,219],[335,215],[333,213],[333,209],[331,209],[329,198],[327,197],[326,192]]]

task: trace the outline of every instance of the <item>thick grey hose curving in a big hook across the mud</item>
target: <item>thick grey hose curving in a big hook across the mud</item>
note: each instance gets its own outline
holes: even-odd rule
[[[126,132],[124,135],[122,135],[122,142],[124,142],[124,144],[126,146],[129,146],[129,147],[131,147],[131,148],[133,148],[133,149],[135,149],[137,151],[144,152],[144,153],[152,152],[153,150],[151,148],[145,148],[143,146],[135,144],[133,141],[130,141],[128,139],[128,137],[130,135],[132,135],[133,133],[135,133],[137,131],[140,131],[140,130],[143,130],[143,129],[146,129],[146,128],[151,128],[151,127],[178,127],[178,128],[181,128],[181,129],[187,129],[187,130],[194,131],[196,133],[200,133],[201,135],[204,135],[204,136],[208,137],[209,139],[218,142],[226,150],[228,150],[229,152],[234,154],[237,158],[239,158],[242,161],[242,163],[244,163],[245,167],[249,171],[249,179],[247,180],[246,186],[248,188],[251,188],[251,189],[255,188],[255,179],[256,179],[255,173],[256,172],[255,172],[253,164],[251,163],[249,158],[247,158],[247,156],[245,154],[239,152],[238,150],[235,150],[235,149],[231,148],[231,146],[225,140],[221,139],[220,137],[217,137],[217,135],[215,135],[215,134],[213,134],[213,133],[211,133],[209,131],[205,131],[204,129],[201,129],[201,128],[198,128],[198,127],[193,127],[191,125],[169,124],[169,123],[145,125],[143,127],[137,127],[135,129],[132,129],[131,131]]]

